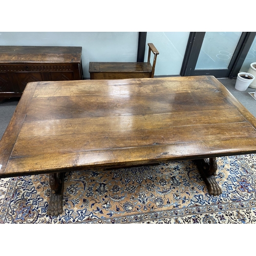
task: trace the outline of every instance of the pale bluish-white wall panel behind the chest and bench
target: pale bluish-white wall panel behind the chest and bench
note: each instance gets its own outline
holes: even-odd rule
[[[81,46],[83,77],[90,61],[136,62],[139,32],[0,32],[1,46]]]

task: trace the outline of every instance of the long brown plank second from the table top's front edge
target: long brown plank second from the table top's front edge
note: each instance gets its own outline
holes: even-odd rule
[[[208,140],[256,137],[256,130],[247,122],[211,125],[188,125],[130,131],[89,132],[59,136],[19,136],[10,158],[37,154],[111,150],[112,148],[140,147],[156,144],[186,142],[203,143]],[[29,141],[29,143],[28,143]],[[230,145],[231,147],[231,145]]]

